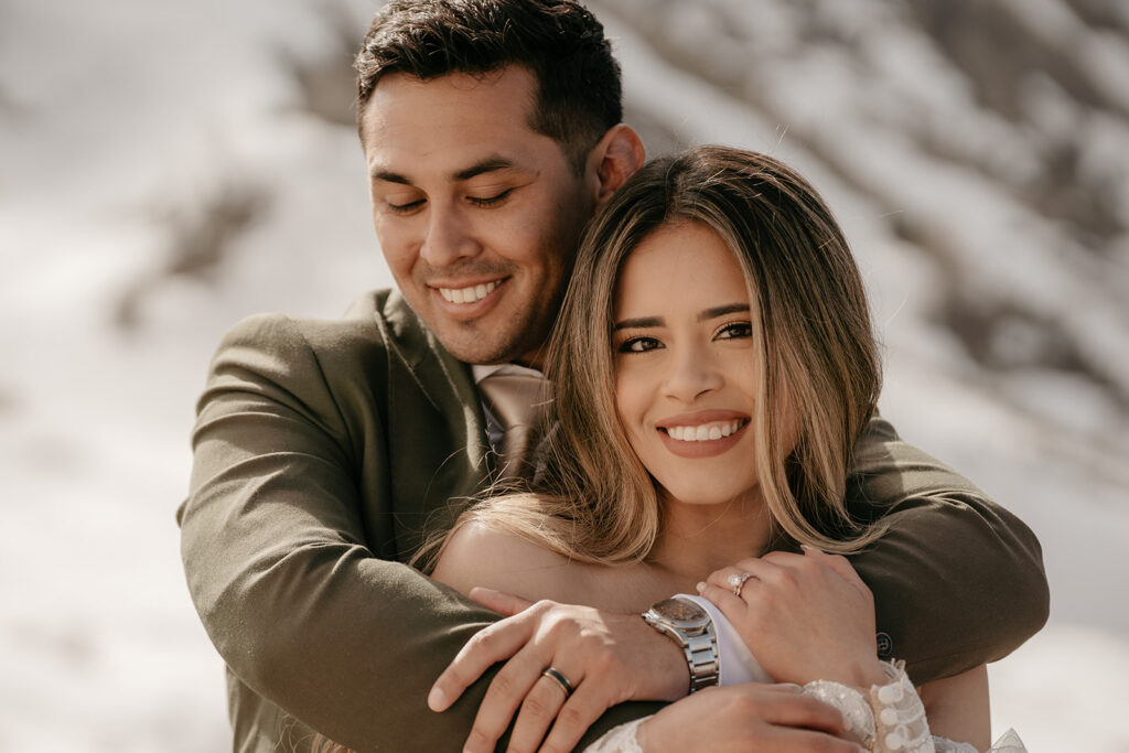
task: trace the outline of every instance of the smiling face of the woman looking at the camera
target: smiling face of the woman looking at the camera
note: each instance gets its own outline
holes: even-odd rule
[[[667,497],[714,505],[755,489],[749,291],[717,233],[666,225],[631,252],[612,342],[620,422]]]

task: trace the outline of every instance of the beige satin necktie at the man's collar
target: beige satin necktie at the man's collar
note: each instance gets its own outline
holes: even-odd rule
[[[479,382],[479,389],[505,429],[500,476],[528,478],[534,463],[527,454],[536,448],[537,423],[552,404],[552,385],[527,374],[491,374]]]

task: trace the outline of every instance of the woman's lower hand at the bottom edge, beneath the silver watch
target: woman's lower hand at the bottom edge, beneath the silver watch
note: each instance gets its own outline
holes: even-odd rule
[[[644,721],[637,738],[647,753],[861,751],[846,734],[839,711],[798,688],[749,683],[708,688],[672,703]]]

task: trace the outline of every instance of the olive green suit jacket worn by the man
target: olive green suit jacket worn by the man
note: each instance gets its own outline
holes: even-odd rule
[[[181,506],[189,589],[228,668],[237,751],[454,751],[489,676],[444,713],[431,683],[498,616],[404,562],[488,479],[470,368],[395,291],[339,321],[252,317],[198,406]],[[999,658],[1047,618],[1039,543],[875,419],[848,502],[890,532],[854,564],[879,643],[918,682]],[[594,727],[653,710],[616,707]]]

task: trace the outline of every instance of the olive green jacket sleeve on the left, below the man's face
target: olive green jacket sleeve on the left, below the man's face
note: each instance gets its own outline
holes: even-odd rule
[[[427,693],[498,615],[374,555],[349,431],[297,325],[229,333],[178,514],[191,596],[230,671],[285,713],[356,751],[457,750],[488,678],[444,713]]]

